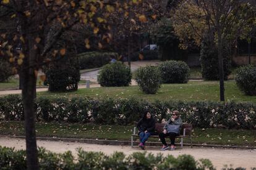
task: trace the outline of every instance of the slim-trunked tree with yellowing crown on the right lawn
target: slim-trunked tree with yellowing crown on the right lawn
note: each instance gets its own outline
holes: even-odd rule
[[[184,42],[193,38],[200,45],[205,34],[212,34],[218,50],[221,101],[224,101],[223,47],[234,43],[244,30],[243,26],[251,18],[245,11],[250,7],[247,1],[182,1],[174,12],[176,32]]]

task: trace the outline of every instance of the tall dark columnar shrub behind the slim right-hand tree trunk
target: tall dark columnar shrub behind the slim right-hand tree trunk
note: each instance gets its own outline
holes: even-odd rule
[[[213,41],[206,39],[202,42],[200,51],[200,62],[202,67],[202,77],[207,80],[218,80],[218,50],[215,48]],[[231,73],[231,59],[228,49],[223,49],[223,69],[224,79],[228,79]]]

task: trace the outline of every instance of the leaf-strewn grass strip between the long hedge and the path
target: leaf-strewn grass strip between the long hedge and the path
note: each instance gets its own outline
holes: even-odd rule
[[[134,126],[36,123],[38,137],[130,140]],[[24,136],[23,122],[0,122],[0,135]],[[150,141],[158,139],[150,139]],[[189,140],[184,139],[185,143]],[[194,129],[194,144],[241,145],[256,147],[256,131],[228,129]]]

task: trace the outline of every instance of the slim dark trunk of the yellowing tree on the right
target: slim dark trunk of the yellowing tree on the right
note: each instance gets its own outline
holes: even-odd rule
[[[220,78],[220,100],[225,101],[224,98],[224,69],[223,69],[223,44],[221,33],[218,31],[218,60],[219,60],[219,78]]]

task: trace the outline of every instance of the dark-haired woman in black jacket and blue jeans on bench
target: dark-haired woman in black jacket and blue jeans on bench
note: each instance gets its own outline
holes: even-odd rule
[[[137,127],[139,129],[140,144],[139,147],[142,150],[145,149],[145,142],[148,140],[150,135],[155,132],[155,119],[152,118],[149,111],[145,111],[143,118],[139,120]]]

